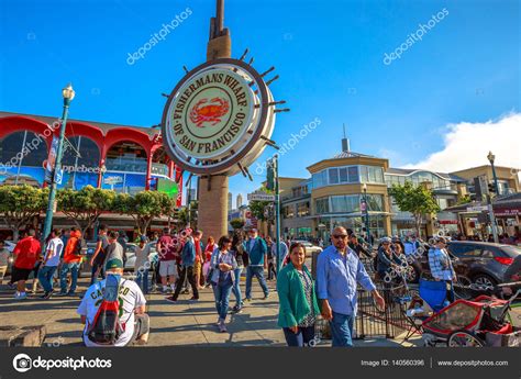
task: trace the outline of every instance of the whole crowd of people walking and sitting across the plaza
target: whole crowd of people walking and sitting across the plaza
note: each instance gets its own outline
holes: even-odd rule
[[[154,235],[152,241],[140,235],[134,249],[132,279],[123,275],[128,243],[124,233],[109,230],[107,225],[99,226],[96,247],[88,257],[90,285],[85,293],[79,294],[78,272],[85,260],[86,246],[81,231],[76,227],[69,231],[55,228],[42,248],[35,231],[30,228],[13,250],[15,259],[9,285],[15,286],[14,299],[26,299],[26,281],[33,272],[33,291],[40,283],[42,299],[79,294],[81,302],[77,312],[85,324],[82,337],[86,346],[126,346],[133,342],[146,343],[148,338],[145,296],[152,290],[151,274],[154,287],[159,282],[160,293],[170,303],[177,303],[180,293],[190,292],[189,301],[197,302],[200,291],[211,288],[218,317],[215,326],[221,333],[228,332],[229,314],[242,313],[245,302],[252,301],[254,278],[263,291],[263,300],[270,297],[268,282],[276,280],[278,326],[288,346],[309,346],[315,338],[319,316],[329,321],[333,346],[353,346],[358,287],[369,291],[377,306],[384,308],[386,300],[375,282],[401,267],[408,256],[424,246],[429,246],[431,274],[435,280],[446,281],[447,296],[456,280],[445,237],[433,238],[428,245],[413,235],[384,237],[375,253],[362,236],[336,227],[331,234],[331,245],[318,256],[315,279],[306,264],[306,247],[301,243],[280,241],[277,246],[270,237],[259,236],[255,228],[248,230],[247,234],[221,236],[217,242],[212,236],[204,241],[202,231],[189,227],[180,231],[165,227],[162,235]],[[153,247],[157,260],[152,259]],[[9,252],[0,241],[2,277],[5,272],[2,267],[7,266]],[[373,263],[374,277],[368,274],[367,261]],[[244,292],[241,288],[243,272]],[[232,294],[233,306],[230,305]],[[118,301],[123,301],[122,309],[113,305]],[[108,335],[110,327],[103,321],[110,319],[108,312],[118,309],[118,323],[112,325],[115,330]]]

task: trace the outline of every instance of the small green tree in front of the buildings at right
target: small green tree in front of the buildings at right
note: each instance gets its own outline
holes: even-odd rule
[[[412,182],[406,181],[403,186],[392,185],[389,194],[393,198],[400,211],[412,213],[418,236],[420,236],[423,215],[440,211],[432,191],[424,186],[413,186]]]

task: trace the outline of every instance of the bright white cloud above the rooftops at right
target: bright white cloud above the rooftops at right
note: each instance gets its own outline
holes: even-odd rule
[[[496,155],[497,166],[521,168],[521,113],[509,113],[485,123],[448,124],[444,130],[442,151],[404,168],[451,172],[488,165],[489,151]]]

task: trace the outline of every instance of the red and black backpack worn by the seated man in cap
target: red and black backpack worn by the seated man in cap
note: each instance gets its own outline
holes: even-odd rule
[[[120,322],[120,275],[108,275],[101,301],[95,320],[87,331],[88,338],[98,345],[114,345],[124,332],[124,325]]]

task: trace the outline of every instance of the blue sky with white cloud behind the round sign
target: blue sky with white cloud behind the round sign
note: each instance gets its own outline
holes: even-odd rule
[[[158,124],[160,93],[206,59],[213,14],[210,0],[0,0],[0,110],[59,116],[70,81],[70,118]],[[521,168],[520,14],[517,0],[228,0],[224,24],[233,57],[248,47],[258,71],[280,76],[270,89],[291,111],[273,140],[319,124],[280,158],[280,176],[307,178],[340,153],[343,124],[352,151],[392,167],[447,172],[487,164],[492,149],[497,165]],[[257,163],[253,182],[230,179],[234,198],[264,180]]]

